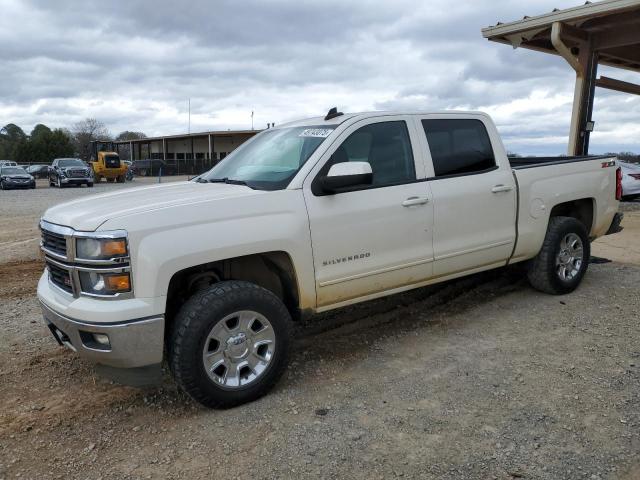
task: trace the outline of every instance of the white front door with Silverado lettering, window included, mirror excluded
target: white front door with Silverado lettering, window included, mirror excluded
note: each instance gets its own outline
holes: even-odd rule
[[[433,204],[408,119],[351,126],[305,181],[320,309],[408,288],[432,274]],[[330,166],[345,161],[368,162],[372,184],[335,194],[319,189]]]

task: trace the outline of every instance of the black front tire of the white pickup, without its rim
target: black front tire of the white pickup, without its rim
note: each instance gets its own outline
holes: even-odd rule
[[[203,351],[213,327],[242,310],[257,312],[270,322],[276,347],[259,377],[244,387],[228,390],[205,371]],[[224,281],[194,294],[180,309],[169,338],[169,366],[177,384],[191,398],[209,408],[230,408],[271,390],[287,367],[290,344],[291,316],[277,296],[249,282]]]

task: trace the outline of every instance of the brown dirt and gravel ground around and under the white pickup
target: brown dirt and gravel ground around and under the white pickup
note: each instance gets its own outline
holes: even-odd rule
[[[640,479],[637,206],[571,295],[496,271],[326,314],[271,394],[211,411],[43,326],[33,224],[68,192],[0,199],[0,479]]]

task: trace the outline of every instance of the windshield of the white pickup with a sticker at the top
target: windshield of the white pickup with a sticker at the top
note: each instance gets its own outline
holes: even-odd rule
[[[323,125],[265,130],[233,151],[198,181],[282,190],[335,128],[335,125]]]

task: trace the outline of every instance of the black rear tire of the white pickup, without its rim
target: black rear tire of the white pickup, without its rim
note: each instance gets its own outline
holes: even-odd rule
[[[582,261],[577,274],[571,279],[564,279],[556,262],[561,242],[569,234],[577,235],[582,242]],[[572,217],[553,217],[549,220],[540,252],[529,264],[529,283],[536,290],[552,295],[571,293],[580,285],[589,267],[590,256],[591,244],[584,224]]]

